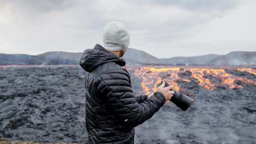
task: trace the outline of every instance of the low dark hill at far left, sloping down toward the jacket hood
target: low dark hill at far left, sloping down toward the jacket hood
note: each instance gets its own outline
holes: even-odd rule
[[[0,65],[77,64],[77,61],[28,54],[0,54]]]

